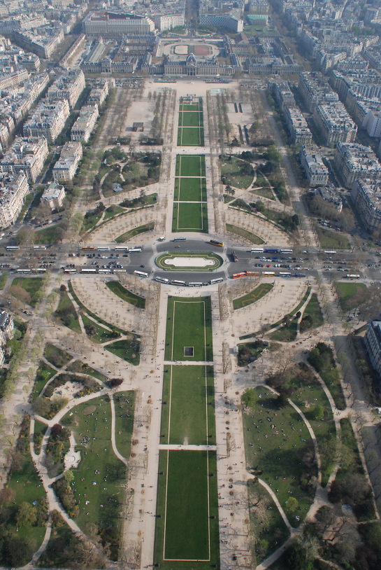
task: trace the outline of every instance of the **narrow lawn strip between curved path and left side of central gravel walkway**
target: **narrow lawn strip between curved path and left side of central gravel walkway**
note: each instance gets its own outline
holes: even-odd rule
[[[135,392],[117,392],[115,406],[115,444],[118,452],[129,459],[131,454],[131,436],[134,431]]]

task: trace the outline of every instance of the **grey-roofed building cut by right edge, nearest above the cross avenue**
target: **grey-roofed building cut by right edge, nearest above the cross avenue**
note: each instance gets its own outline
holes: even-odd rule
[[[369,232],[381,228],[381,186],[379,183],[368,183],[355,180],[351,190],[351,198]]]

